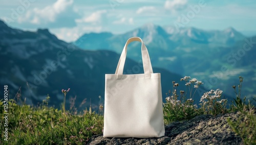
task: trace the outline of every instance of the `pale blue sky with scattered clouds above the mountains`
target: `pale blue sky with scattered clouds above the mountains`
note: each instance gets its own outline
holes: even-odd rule
[[[84,33],[125,33],[146,23],[256,35],[255,0],[0,0],[0,18],[13,28],[48,28],[65,41]]]

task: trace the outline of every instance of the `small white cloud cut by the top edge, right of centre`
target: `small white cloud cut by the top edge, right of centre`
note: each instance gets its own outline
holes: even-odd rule
[[[170,11],[177,11],[185,9],[187,6],[187,0],[171,0],[165,1],[164,8]]]

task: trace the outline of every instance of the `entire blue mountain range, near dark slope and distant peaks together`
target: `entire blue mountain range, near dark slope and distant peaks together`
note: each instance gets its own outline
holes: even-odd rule
[[[161,73],[163,100],[168,90],[173,89],[172,81],[180,83],[179,89],[185,90],[185,85],[180,82],[184,76],[196,77],[205,83],[203,90],[195,95],[197,103],[202,91],[216,86],[231,100],[230,96],[234,96],[231,86],[238,83],[239,75],[245,78],[244,92],[256,94],[255,37],[245,40],[231,28],[217,32],[194,28],[175,32],[171,29],[148,24],[120,35],[108,32],[85,34],[77,41],[67,43],[47,29],[23,31],[10,28],[0,20],[0,84],[8,85],[10,99],[14,96],[22,100],[26,98],[26,103],[37,105],[49,94],[49,105],[56,107],[60,107],[63,99],[61,89],[71,88],[67,94],[67,107],[71,98],[76,98],[78,110],[90,105],[97,109],[104,103],[104,75],[114,74],[125,41],[139,36],[148,48],[154,72]],[[207,38],[203,40],[201,36]],[[217,36],[223,38],[217,40]],[[245,43],[250,47],[242,49],[242,55],[241,48]],[[124,74],[143,73],[140,51],[139,43],[129,44],[127,56],[131,59],[126,59]],[[233,53],[239,56],[233,56]]]

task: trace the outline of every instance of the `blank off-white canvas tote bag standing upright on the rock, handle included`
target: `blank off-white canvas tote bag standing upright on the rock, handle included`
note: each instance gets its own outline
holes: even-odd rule
[[[127,45],[140,41],[144,74],[123,75]],[[105,75],[103,137],[164,136],[161,76],[153,73],[144,42],[124,45],[115,74]]]

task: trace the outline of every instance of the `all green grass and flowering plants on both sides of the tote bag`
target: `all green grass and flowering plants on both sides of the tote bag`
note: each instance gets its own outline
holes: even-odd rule
[[[251,101],[241,98],[243,78],[240,77],[238,88],[234,88],[236,98],[227,108],[227,100],[223,98],[220,89],[210,90],[201,96],[199,106],[195,105],[195,92],[203,85],[197,79],[184,77],[181,79],[186,90],[180,90],[173,82],[173,90],[166,93],[166,103],[163,104],[165,125],[189,120],[201,114],[224,114],[241,112],[238,120],[228,119],[228,124],[244,141],[244,144],[256,144],[256,116],[255,107]],[[231,86],[230,86],[231,87]],[[103,131],[103,106],[100,114],[85,109],[81,115],[76,115],[76,109],[66,110],[66,94],[68,90],[61,90],[63,102],[61,109],[49,107],[50,96],[42,104],[30,106],[19,99],[19,93],[8,104],[8,141],[4,140],[4,104],[0,102],[0,144],[85,144],[93,135],[100,135]],[[179,93],[178,93],[179,92]],[[254,98],[254,101],[255,98]]]

